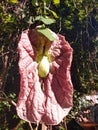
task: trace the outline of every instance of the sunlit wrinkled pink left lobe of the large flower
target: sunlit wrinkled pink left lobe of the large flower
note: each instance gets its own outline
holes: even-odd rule
[[[44,94],[38,77],[38,64],[34,62],[34,51],[28,39],[28,31],[21,35],[18,44],[20,54],[20,93],[16,106],[20,118],[26,121],[39,122],[44,113]]]

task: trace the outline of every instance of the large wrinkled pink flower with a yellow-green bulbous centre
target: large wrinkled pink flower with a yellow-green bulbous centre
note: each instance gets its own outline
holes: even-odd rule
[[[70,76],[72,48],[64,36],[50,41],[37,29],[22,32],[18,44],[20,93],[16,106],[20,118],[57,125],[73,105]]]

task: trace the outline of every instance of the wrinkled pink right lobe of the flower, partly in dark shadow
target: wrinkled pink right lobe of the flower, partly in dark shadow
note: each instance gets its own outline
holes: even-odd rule
[[[51,45],[55,61],[51,63],[50,74],[45,80],[46,107],[43,120],[46,124],[52,125],[59,124],[73,105],[73,85],[70,76],[72,48],[63,36],[58,37],[61,42],[55,41],[56,43]],[[59,55],[56,54],[57,50],[61,52]]]

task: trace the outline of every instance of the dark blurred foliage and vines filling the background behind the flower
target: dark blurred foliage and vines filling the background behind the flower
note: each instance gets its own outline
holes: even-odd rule
[[[74,50],[71,75],[75,111],[81,95],[98,90],[97,0],[1,0],[0,130],[30,129],[15,111],[20,82],[17,44],[23,30],[43,24],[64,35]],[[54,129],[64,128],[60,124]]]

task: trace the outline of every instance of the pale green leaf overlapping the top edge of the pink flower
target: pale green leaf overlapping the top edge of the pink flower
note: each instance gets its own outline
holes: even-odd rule
[[[37,30],[38,32],[42,33],[45,37],[47,37],[50,41],[56,40],[54,36],[51,35],[51,32],[48,28],[40,28]]]

